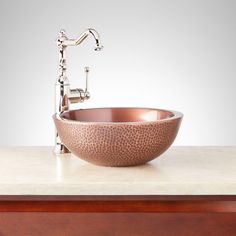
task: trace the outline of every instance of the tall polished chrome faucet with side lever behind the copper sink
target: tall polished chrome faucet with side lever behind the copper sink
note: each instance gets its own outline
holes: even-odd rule
[[[85,67],[86,87],[85,89],[71,89],[69,80],[66,77],[66,56],[65,50],[68,46],[77,46],[81,44],[89,35],[95,39],[95,51],[100,51],[103,46],[100,43],[100,36],[94,29],[85,30],[77,39],[69,39],[64,30],[61,30],[57,38],[57,46],[59,49],[59,72],[60,75],[55,84],[55,113],[60,114],[69,110],[71,103],[80,103],[90,98],[88,91],[88,73],[89,67]],[[70,151],[63,145],[56,131],[55,149],[57,154],[69,153]]]

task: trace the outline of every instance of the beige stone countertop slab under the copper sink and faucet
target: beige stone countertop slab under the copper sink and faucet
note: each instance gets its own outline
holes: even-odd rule
[[[101,167],[52,147],[0,148],[0,195],[236,195],[236,147],[171,147],[136,167]]]

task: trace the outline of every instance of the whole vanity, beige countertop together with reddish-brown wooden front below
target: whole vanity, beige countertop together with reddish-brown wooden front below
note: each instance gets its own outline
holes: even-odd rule
[[[172,147],[129,168],[1,148],[0,163],[0,235],[236,235],[235,147]]]

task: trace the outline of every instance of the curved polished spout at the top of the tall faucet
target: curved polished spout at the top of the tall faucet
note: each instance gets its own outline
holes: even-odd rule
[[[61,43],[61,46],[76,46],[81,44],[89,35],[92,35],[93,38],[95,39],[95,51],[100,51],[102,50],[103,46],[101,45],[101,40],[99,33],[95,29],[87,29],[85,30],[77,39],[65,39]]]

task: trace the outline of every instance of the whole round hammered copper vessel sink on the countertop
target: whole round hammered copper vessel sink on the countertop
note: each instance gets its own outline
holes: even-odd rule
[[[173,143],[182,114],[149,108],[71,110],[53,119],[63,144],[76,156],[102,166],[144,164]]]

